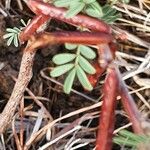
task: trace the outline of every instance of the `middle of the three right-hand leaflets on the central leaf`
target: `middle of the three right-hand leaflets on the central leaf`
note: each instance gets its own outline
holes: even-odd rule
[[[78,62],[85,72],[87,72],[89,74],[95,74],[96,73],[95,68],[84,57],[79,56]]]

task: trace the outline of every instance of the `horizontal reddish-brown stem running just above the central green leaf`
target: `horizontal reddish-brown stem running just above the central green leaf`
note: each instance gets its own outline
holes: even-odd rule
[[[31,41],[35,41],[31,45],[31,49],[44,47],[56,43],[75,43],[75,44],[102,44],[109,43],[113,37],[107,33],[90,33],[90,32],[53,32],[53,33],[38,33],[31,36]]]

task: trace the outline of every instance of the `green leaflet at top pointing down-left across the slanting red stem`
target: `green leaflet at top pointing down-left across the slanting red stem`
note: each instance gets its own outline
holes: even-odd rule
[[[69,10],[66,12],[65,17],[71,18],[77,15],[79,12],[83,10],[84,7],[85,7],[85,3],[83,2],[77,2],[77,3],[71,4]]]

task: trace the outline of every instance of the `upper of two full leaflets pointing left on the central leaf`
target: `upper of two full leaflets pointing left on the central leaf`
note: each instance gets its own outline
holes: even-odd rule
[[[76,57],[76,54],[63,53],[63,54],[55,55],[52,60],[55,64],[62,65],[62,64],[65,64],[74,60],[75,57]]]

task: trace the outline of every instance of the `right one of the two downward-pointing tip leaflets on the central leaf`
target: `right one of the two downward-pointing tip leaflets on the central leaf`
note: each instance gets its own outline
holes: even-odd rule
[[[80,66],[77,66],[77,77],[80,81],[80,83],[82,84],[82,86],[86,89],[91,91],[93,89],[91,83],[89,82],[85,72],[83,71],[83,69]]]

